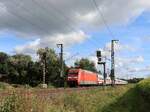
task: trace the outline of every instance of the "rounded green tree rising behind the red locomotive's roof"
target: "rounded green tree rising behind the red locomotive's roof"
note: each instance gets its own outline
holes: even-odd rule
[[[97,72],[95,64],[93,61],[90,61],[87,58],[82,58],[81,60],[77,60],[74,63],[75,67],[79,67],[81,69],[89,70],[92,72]]]

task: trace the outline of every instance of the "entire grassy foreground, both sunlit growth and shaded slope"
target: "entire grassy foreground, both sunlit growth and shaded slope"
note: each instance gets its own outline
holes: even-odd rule
[[[14,90],[12,95],[1,97],[0,112],[150,112],[150,79],[136,85],[46,97],[22,96]]]

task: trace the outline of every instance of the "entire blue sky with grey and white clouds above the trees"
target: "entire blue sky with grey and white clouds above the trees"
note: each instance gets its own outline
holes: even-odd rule
[[[0,51],[36,58],[38,48],[48,46],[59,52],[56,44],[63,43],[66,63],[71,65],[81,57],[96,62],[97,49],[109,59],[110,41],[119,39],[118,77],[150,76],[150,1],[95,2],[0,0]]]

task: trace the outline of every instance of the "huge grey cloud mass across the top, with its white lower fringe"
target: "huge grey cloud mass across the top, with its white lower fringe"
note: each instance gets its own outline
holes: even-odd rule
[[[149,0],[97,0],[97,4],[109,25],[127,24],[150,8]],[[17,47],[18,51],[31,52],[30,48],[48,45],[46,41],[71,45],[85,40],[83,27],[104,26],[93,6],[90,0],[0,0],[0,30],[39,39],[36,45],[33,41]]]

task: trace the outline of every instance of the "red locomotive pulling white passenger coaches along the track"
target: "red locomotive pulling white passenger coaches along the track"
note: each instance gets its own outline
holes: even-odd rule
[[[67,83],[69,86],[90,86],[90,85],[103,85],[104,79],[101,74],[94,73],[83,69],[70,69],[68,71]],[[111,79],[106,79],[106,85],[111,84]],[[115,84],[127,84],[126,81],[116,79]]]

